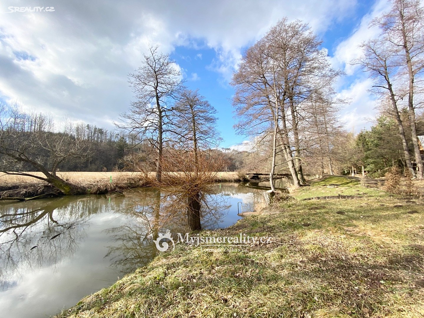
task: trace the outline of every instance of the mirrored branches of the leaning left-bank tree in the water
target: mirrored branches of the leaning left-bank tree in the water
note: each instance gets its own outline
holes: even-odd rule
[[[93,198],[93,197],[91,197]],[[59,198],[0,205],[0,290],[20,273],[56,265],[85,237],[81,225],[100,209],[99,200]]]

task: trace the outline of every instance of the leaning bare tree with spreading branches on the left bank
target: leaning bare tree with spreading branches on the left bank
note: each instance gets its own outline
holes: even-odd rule
[[[72,158],[89,156],[89,146],[69,134],[49,131],[50,122],[42,115],[31,118],[17,108],[3,105],[0,109],[0,171],[46,181],[66,195],[86,193],[84,187],[62,179],[56,172],[60,164]],[[34,123],[38,123],[35,129]],[[39,171],[44,177],[28,170]]]

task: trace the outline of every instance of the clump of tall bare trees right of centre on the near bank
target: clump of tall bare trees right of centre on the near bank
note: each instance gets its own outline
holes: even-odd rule
[[[332,84],[341,73],[332,69],[320,45],[307,24],[283,19],[245,52],[233,76],[235,128],[271,140],[273,191],[279,166],[290,171],[294,187],[305,183],[304,155],[312,148],[326,153],[333,170],[330,139],[341,102]]]

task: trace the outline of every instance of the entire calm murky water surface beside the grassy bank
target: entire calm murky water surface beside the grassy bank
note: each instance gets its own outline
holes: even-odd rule
[[[237,222],[237,202],[246,212],[262,200],[260,190],[238,184],[216,192],[207,229]],[[55,315],[148,263],[157,253],[154,225],[185,232],[184,213],[169,213],[167,201],[149,188],[0,203],[0,316]]]

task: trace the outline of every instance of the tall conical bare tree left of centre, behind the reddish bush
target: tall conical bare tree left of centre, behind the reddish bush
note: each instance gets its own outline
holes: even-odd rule
[[[157,152],[156,179],[160,182],[163,146],[166,136],[173,131],[170,115],[181,90],[181,73],[169,54],[159,53],[158,49],[158,46],[149,47],[142,65],[128,75],[136,101],[128,112],[121,114],[124,123],[116,125],[152,143]]]

